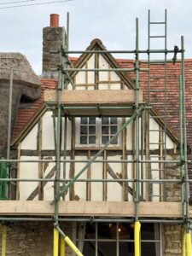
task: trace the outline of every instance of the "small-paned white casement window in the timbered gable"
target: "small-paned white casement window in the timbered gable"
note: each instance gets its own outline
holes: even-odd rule
[[[101,147],[108,143],[118,131],[121,119],[116,117],[82,117],[76,119],[76,145]],[[115,137],[109,146],[119,146],[121,135]]]

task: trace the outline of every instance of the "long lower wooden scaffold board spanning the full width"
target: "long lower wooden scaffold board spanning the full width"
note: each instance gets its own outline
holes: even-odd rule
[[[134,202],[114,201],[60,201],[60,216],[103,216],[134,217]],[[190,218],[192,207],[189,208]],[[50,201],[0,201],[0,215],[52,216],[54,205]],[[180,202],[140,202],[139,217],[143,218],[183,218]]]

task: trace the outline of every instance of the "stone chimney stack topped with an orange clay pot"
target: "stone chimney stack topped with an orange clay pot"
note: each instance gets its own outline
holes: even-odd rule
[[[50,15],[50,25],[43,29],[43,70],[44,78],[57,78],[58,72],[51,69],[60,64],[59,54],[52,51],[61,49],[61,44],[66,36],[65,28],[59,26],[59,15]]]

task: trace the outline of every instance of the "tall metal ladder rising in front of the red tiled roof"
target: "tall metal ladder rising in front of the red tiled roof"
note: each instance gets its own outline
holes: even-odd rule
[[[155,32],[158,32],[158,28],[160,26],[163,26],[163,33],[160,35],[158,34],[152,34],[151,32],[151,27],[156,26],[157,29],[155,29]],[[154,29],[153,29],[154,30]],[[154,119],[154,116],[150,115],[150,111],[148,111],[148,159],[151,160],[153,159],[152,155],[150,154],[150,150],[153,146],[157,145],[159,148],[159,160],[166,160],[166,116],[167,116],[167,102],[166,102],[166,64],[167,64],[167,26],[166,26],[166,10],[165,10],[165,20],[164,21],[151,21],[150,17],[150,10],[148,10],[148,104],[152,106],[155,109],[155,106],[160,107],[160,115],[156,116],[155,118],[162,119],[163,120],[163,126],[159,126],[159,129],[150,129],[150,119]],[[164,55],[164,61],[154,61],[151,60],[151,43],[152,40],[154,41],[155,39],[163,39],[163,46],[162,46],[162,54]],[[155,75],[152,73],[151,70],[151,65],[161,65],[161,68],[163,70],[162,75],[158,74]],[[153,85],[155,80],[161,80],[163,81],[163,86],[155,86]],[[153,102],[152,96],[154,94],[160,94],[160,97],[156,97],[155,102]],[[160,102],[158,102],[158,99],[161,99]],[[159,109],[158,109],[159,110]],[[158,142],[152,142],[151,138],[153,137],[152,134],[159,133],[159,141]],[[155,174],[154,174],[155,173]],[[148,177],[153,178],[158,175],[158,178],[166,178],[166,163],[160,163],[158,168],[154,168],[151,164],[148,165]],[[160,201],[166,201],[166,183],[160,184],[160,194],[159,195],[154,195],[153,193],[153,185],[150,183],[148,185],[148,201],[153,201],[155,198],[159,198]]]

